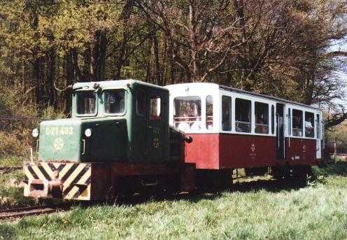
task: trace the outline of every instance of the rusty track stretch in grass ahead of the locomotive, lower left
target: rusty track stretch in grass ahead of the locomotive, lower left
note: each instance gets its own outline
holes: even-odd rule
[[[55,213],[58,211],[67,210],[71,204],[55,204],[45,206],[28,206],[23,208],[6,209],[0,211],[1,219],[22,218],[24,216],[41,215],[45,213]]]

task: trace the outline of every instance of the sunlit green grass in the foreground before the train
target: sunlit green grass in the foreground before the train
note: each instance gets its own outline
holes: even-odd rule
[[[0,222],[0,239],[347,239],[347,163],[315,168],[298,188],[274,181],[232,190]]]

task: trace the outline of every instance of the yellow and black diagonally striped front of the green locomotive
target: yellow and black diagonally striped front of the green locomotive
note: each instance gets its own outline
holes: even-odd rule
[[[91,199],[92,164],[72,162],[24,162],[24,174],[32,180],[61,181],[62,198]],[[24,186],[24,196],[29,195],[29,185]]]

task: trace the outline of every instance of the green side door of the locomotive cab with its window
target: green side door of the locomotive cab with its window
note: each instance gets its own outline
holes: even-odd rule
[[[148,124],[146,133],[146,159],[160,161],[163,157],[163,120],[162,97],[160,92],[150,91],[148,94]]]

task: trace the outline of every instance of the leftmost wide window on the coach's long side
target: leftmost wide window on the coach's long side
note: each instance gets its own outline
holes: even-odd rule
[[[235,99],[235,127],[236,132],[250,132],[251,101]]]

